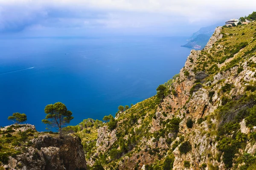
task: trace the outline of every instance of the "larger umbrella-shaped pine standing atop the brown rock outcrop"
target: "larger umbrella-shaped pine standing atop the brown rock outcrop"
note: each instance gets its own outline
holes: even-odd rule
[[[67,107],[61,102],[45,106],[44,112],[47,115],[42,122],[57,129],[60,132],[60,135],[62,127],[74,119],[74,117],[71,116],[72,112],[68,111]]]

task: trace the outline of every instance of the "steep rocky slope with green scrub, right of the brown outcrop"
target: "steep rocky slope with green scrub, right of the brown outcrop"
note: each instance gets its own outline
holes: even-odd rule
[[[91,169],[254,166],[255,39],[256,23],[216,28],[206,47],[192,50],[179,76],[166,83],[162,100],[153,96],[114,121],[92,124],[97,137],[83,142]],[[92,135],[80,127],[77,134]]]

